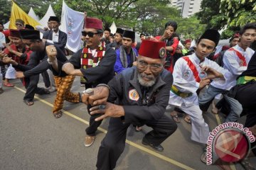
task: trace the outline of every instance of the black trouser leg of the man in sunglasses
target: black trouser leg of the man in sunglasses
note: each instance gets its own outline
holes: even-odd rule
[[[89,114],[90,114],[90,111],[89,111],[90,108],[92,108],[92,106],[88,105],[87,106],[87,111],[88,111]],[[95,136],[95,132],[97,131],[97,128],[102,123],[102,120],[95,121],[95,118],[100,117],[100,115],[102,115],[102,114],[95,114],[95,115],[90,114],[90,125],[89,125],[88,128],[85,129],[85,132],[86,132],[87,135]]]

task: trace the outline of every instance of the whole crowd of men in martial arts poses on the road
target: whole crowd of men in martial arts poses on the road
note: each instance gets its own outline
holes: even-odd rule
[[[221,109],[227,115],[225,122],[237,122],[246,115],[245,127],[256,135],[256,54],[250,48],[256,39],[256,23],[243,26],[230,39],[230,46],[215,54],[220,40],[217,30],[206,30],[194,47],[189,39],[181,47],[175,21],[166,23],[163,35],[153,38],[142,33],[142,42],[135,42],[132,30],[117,28],[113,35],[109,28],[103,29],[100,19],[85,17],[84,47],[70,59],[65,50],[67,34],[59,26],[58,17],[50,16],[41,38],[39,30],[20,19],[16,20],[16,30],[4,30],[0,23],[0,94],[4,92],[2,86],[14,86],[8,74],[15,69],[16,78],[26,88],[23,101],[27,106],[33,105],[35,94],[57,91],[53,116],[60,118],[64,101],[85,103],[90,114],[85,147],[93,144],[102,120],[110,117],[97,169],[115,168],[129,125],[137,131],[143,125],[152,128],[142,144],[164,151],[161,143],[176,131],[182,113],[191,123],[191,140],[206,148],[210,129],[203,113],[219,94],[223,98],[212,112],[218,114]],[[39,74],[45,88],[38,87]],[[70,91],[75,77],[80,77],[85,91]],[[170,107],[174,108],[171,117],[165,114]],[[256,154],[255,149],[252,152]],[[206,163],[206,149],[201,161]],[[242,165],[251,166],[247,162]]]

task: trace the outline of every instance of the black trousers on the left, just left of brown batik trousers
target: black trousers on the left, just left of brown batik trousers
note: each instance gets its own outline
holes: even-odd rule
[[[23,100],[33,101],[35,94],[46,94],[46,90],[43,88],[38,88],[39,74],[31,77],[25,77],[25,88],[26,94]]]

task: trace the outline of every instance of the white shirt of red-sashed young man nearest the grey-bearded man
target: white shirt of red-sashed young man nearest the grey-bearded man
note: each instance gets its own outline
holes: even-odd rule
[[[230,72],[228,72],[228,70],[226,69],[223,69],[223,67],[220,67],[216,62],[208,60],[207,58],[205,58],[203,62],[200,62],[198,57],[196,57],[196,54],[188,55],[188,57],[196,67],[198,73],[201,72],[200,65],[211,67],[222,73],[224,79],[215,79],[215,81],[218,81],[220,84],[225,84],[225,80],[228,79],[228,77],[230,76]],[[169,104],[174,106],[181,106],[182,103],[184,103],[186,106],[192,106],[195,104],[198,105],[198,96],[196,94],[196,91],[199,88],[199,83],[196,81],[192,70],[188,66],[188,62],[186,62],[183,57],[178,59],[175,63],[173,77],[174,85],[179,91],[184,93],[193,93],[193,95],[187,98],[181,98],[180,96],[177,96],[172,91],[170,91]]]

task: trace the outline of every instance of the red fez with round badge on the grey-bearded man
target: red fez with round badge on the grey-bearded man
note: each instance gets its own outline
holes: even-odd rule
[[[154,40],[142,40],[139,47],[139,55],[152,59],[161,59],[166,57],[166,43]]]

